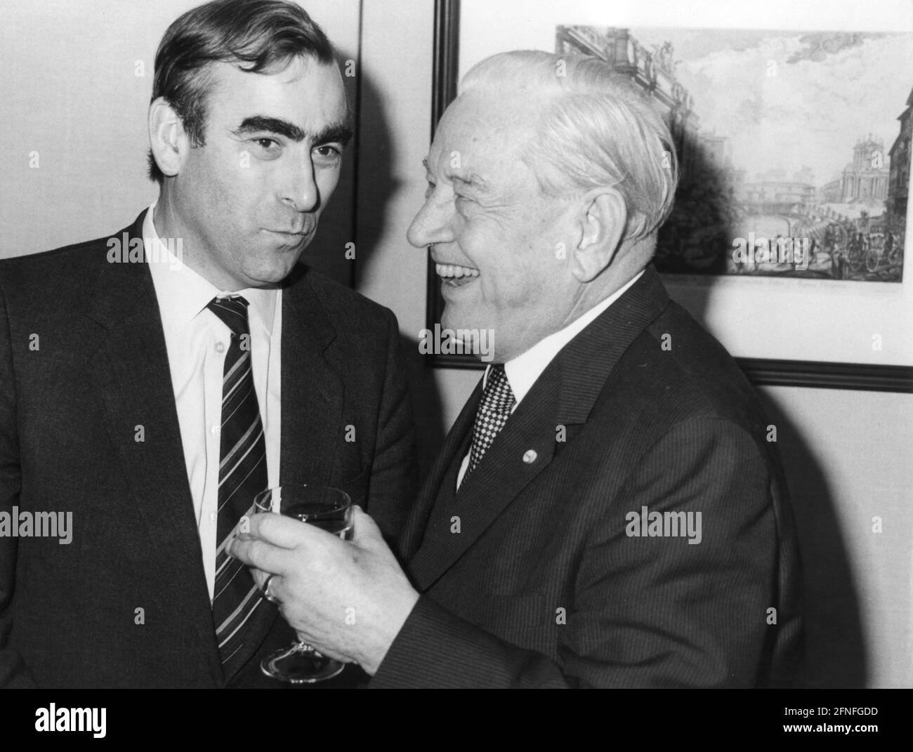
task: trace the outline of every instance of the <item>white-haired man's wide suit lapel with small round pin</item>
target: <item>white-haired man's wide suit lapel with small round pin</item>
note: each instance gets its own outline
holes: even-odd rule
[[[454,507],[454,514],[460,517],[460,534],[451,534],[446,526],[438,525],[417,543],[408,569],[418,590],[430,588],[523,489],[551,465],[559,426],[566,428],[568,440],[572,441],[573,427],[586,422],[624,351],[656,319],[667,302],[666,290],[656,270],[647,266],[643,277],[551,361],[510,416],[483,462],[460,486]],[[475,417],[478,399],[475,392],[474,397],[460,415],[464,432],[465,422],[471,425]],[[472,411],[467,414],[470,404]],[[442,456],[438,461],[445,471],[448,459],[454,461],[453,444],[458,444],[460,438],[454,433],[456,425],[445,444],[451,456]],[[429,509],[433,502],[425,496],[436,502],[443,496],[440,493],[443,473],[438,465],[436,477],[432,476],[420,495],[421,503]],[[425,525],[429,514],[425,512]],[[415,534],[414,538],[418,540]]]

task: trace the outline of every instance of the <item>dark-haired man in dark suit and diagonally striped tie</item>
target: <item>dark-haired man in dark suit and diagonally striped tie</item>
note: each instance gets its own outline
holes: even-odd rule
[[[226,555],[253,496],[340,487],[393,539],[414,494],[393,314],[298,265],[351,135],[329,41],[217,0],[155,68],[156,203],[0,262],[3,686],[275,685],[294,632]]]

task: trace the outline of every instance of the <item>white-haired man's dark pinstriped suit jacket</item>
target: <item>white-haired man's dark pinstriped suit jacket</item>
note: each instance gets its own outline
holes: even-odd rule
[[[479,396],[407,520],[422,595],[371,686],[789,681],[798,558],[767,421],[652,266],[552,360],[454,494]],[[700,543],[629,537],[643,507],[700,512]]]

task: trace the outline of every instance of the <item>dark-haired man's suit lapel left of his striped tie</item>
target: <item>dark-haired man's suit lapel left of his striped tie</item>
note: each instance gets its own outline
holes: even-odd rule
[[[125,231],[131,238],[142,238],[144,215]],[[163,569],[162,580],[171,583],[160,606],[186,612],[217,673],[218,648],[194,502],[149,267],[106,264],[87,313],[98,325],[93,332],[98,349],[90,366],[94,388],[124,475],[131,480],[152,559]]]

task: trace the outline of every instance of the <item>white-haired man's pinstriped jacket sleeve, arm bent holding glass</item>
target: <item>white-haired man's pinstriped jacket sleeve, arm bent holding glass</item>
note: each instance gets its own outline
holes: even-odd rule
[[[592,519],[566,623],[556,627],[556,659],[504,642],[423,595],[371,686],[755,684],[776,629],[768,611],[777,560],[770,483],[767,461],[739,425],[678,423]],[[588,493],[601,486],[593,478]],[[628,535],[626,515],[642,507],[699,512],[699,542]]]

